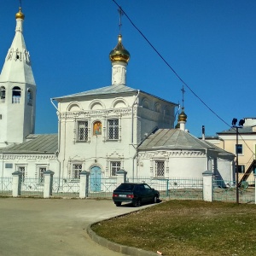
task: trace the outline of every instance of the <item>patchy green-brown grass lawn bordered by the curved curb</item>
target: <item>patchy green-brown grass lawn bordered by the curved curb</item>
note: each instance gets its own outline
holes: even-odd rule
[[[256,255],[256,205],[166,201],[92,230],[109,241],[163,255]]]

